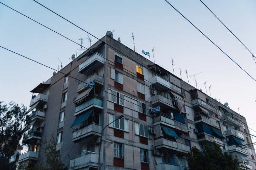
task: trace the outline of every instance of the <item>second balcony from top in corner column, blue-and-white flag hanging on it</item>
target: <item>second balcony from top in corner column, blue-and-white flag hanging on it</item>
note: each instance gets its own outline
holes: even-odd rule
[[[85,79],[83,82],[79,83],[77,86],[77,92],[81,93],[82,91],[86,90],[87,88],[89,88],[88,86],[86,86],[86,84],[95,81],[97,83],[100,83],[101,85],[103,85],[103,77],[99,74],[94,73],[93,75],[91,75],[90,77],[88,77],[87,79]]]

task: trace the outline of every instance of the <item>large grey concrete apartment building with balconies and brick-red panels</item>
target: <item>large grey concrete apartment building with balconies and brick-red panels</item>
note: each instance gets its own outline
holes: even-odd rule
[[[45,159],[42,141],[54,134],[70,169],[185,170],[191,148],[214,141],[256,169],[253,146],[240,147],[252,143],[243,116],[108,35],[60,72],[30,91],[29,151],[18,163]]]

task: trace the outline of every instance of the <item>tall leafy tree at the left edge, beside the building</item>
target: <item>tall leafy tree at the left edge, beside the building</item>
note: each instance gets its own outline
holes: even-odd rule
[[[16,169],[16,162],[10,162],[18,143],[28,128],[25,123],[27,108],[10,102],[0,101],[0,170]]]

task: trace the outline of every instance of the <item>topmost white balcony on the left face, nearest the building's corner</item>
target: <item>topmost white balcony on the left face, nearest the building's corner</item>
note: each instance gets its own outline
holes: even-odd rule
[[[90,75],[94,72],[93,70],[95,70],[95,68],[103,66],[104,62],[104,56],[96,52],[79,65],[79,72],[85,75]]]

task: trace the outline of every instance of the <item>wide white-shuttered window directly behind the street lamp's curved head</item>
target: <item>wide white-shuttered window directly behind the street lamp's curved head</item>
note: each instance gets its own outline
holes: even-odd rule
[[[114,120],[117,120],[118,117],[119,117],[118,115],[109,114],[109,123],[113,122]],[[121,118],[121,119],[118,119],[117,121],[114,121],[109,126],[112,127],[112,128],[121,129],[121,130],[124,130],[126,132],[129,132],[128,120],[124,119],[124,118]]]

